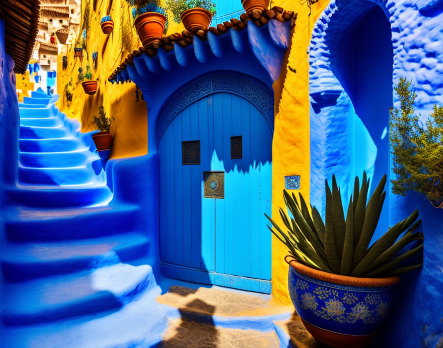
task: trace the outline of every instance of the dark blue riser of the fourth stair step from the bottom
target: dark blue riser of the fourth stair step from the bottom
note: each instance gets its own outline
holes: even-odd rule
[[[8,196],[15,202],[27,207],[64,208],[90,206],[110,198],[106,188],[72,191],[13,190]]]

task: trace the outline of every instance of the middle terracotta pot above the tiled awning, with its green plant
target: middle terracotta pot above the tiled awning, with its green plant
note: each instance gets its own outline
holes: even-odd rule
[[[208,0],[167,0],[174,21],[183,23],[190,32],[208,30],[212,17],[216,15],[216,4]]]

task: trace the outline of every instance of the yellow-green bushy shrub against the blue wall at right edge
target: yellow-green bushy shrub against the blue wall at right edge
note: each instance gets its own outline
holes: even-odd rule
[[[426,122],[419,124],[415,114],[416,94],[411,83],[401,78],[395,87],[400,109],[391,109],[390,140],[396,179],[391,180],[394,193],[423,193],[436,204],[443,201],[443,107],[435,105]]]

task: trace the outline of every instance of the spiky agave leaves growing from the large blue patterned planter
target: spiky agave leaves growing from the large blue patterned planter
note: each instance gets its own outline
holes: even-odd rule
[[[284,190],[285,204],[292,217],[288,217],[281,208],[280,216],[288,232],[284,233],[265,214],[278,233],[268,227],[289,248],[298,262],[325,272],[376,278],[397,275],[420,267],[422,263],[401,266],[403,261],[423,250],[422,234],[414,232],[421,223],[421,220],[417,220],[417,210],[389,228],[369,247],[383,208],[385,184],[386,175],[367,201],[369,180],[366,173],[363,173],[360,187],[357,176],[345,220],[340,188],[335,176],[332,177],[332,191],[326,180],[324,222],[315,207],[311,207],[310,213],[301,194],[299,203],[294,194],[290,195]]]

